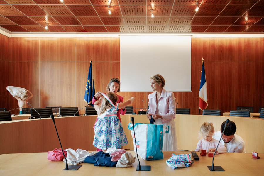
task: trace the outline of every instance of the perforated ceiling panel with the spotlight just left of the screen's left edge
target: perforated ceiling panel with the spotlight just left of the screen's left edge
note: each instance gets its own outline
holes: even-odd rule
[[[122,16],[119,6],[111,6],[109,8],[111,10],[111,14],[108,13],[107,6],[94,5],[93,7],[99,16]]]

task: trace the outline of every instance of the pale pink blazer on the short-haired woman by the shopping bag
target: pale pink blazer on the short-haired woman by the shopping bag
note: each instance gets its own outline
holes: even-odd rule
[[[152,94],[148,95],[148,114],[155,114],[157,109],[157,98],[156,98],[157,92],[153,92]],[[172,92],[168,92],[164,89],[162,89],[160,99],[158,99],[158,108],[160,111],[160,114],[162,116],[161,122],[162,124],[172,121],[175,119],[175,112],[176,112],[176,102],[175,97]]]

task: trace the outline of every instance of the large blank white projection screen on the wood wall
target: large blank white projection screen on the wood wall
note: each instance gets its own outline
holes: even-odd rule
[[[191,91],[191,35],[120,35],[120,91],[151,92],[155,74],[167,91]]]

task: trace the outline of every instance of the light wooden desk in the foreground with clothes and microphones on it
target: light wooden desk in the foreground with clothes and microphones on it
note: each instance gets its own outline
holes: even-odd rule
[[[128,151],[133,156],[133,151]],[[141,165],[150,165],[151,171],[136,171],[138,160],[132,167],[99,167],[93,164],[81,163],[77,171],[64,171],[65,162],[49,161],[47,153],[17,153],[0,155],[0,175],[109,175],[109,176],[161,176],[161,175],[263,175],[264,154],[260,159],[253,159],[252,153],[223,153],[216,155],[214,165],[221,166],[225,172],[211,172],[207,165],[212,165],[212,158],[200,156],[190,167],[172,169],[166,165],[166,160],[172,153],[187,154],[190,152],[163,152],[164,159],[145,161],[140,158]],[[198,154],[198,152],[197,152]]]

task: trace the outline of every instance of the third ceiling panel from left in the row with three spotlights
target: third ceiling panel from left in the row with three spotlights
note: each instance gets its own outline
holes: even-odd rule
[[[39,5],[51,16],[73,16],[71,11],[65,5]]]

